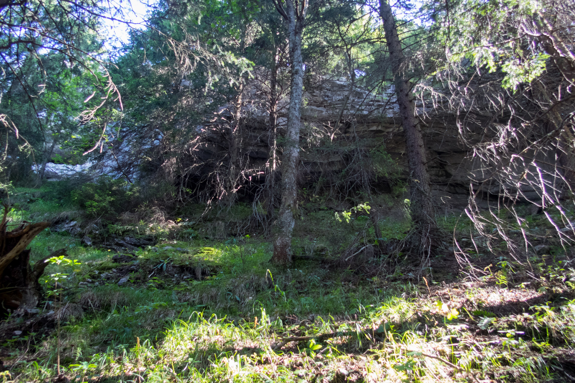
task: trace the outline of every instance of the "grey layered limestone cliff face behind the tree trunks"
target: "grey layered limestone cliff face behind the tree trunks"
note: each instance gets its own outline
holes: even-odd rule
[[[252,84],[245,88],[243,99],[247,101],[241,107],[241,153],[248,158],[246,177],[250,181],[263,183],[273,141],[267,98],[256,84]],[[277,108],[280,149],[283,127],[287,122],[288,101],[287,96],[283,96]],[[438,203],[461,209],[467,204],[470,188],[477,190],[482,180],[489,176],[489,169],[477,171],[477,164],[474,166],[473,157],[469,156],[469,146],[459,139],[453,115],[426,110],[421,102],[417,105],[417,112],[427,146],[434,196]],[[231,118],[232,115],[228,107],[222,107],[219,114],[223,118]],[[305,127],[301,133],[300,184],[309,186],[325,173],[349,171],[354,158],[357,160],[368,156],[375,148],[385,148],[402,169],[402,177],[407,179],[407,154],[400,118],[393,101],[393,88],[389,88],[385,94],[373,95],[358,87],[350,91],[350,84],[342,80],[308,80],[305,83],[302,119]],[[221,136],[210,133],[210,129],[205,131],[208,143],[202,149],[204,158],[227,149]],[[476,142],[484,134],[479,125],[477,131],[476,137],[472,137]],[[278,155],[281,160],[281,150],[278,150]],[[359,172],[358,167],[361,166],[362,162],[359,161],[354,171]],[[363,170],[369,173],[369,169]],[[354,179],[356,187],[365,181],[368,181],[365,176],[363,180],[359,176]],[[485,196],[490,195],[493,200],[500,195],[500,189],[501,185],[495,183],[481,187],[481,192]],[[385,192],[385,188],[381,191]]]

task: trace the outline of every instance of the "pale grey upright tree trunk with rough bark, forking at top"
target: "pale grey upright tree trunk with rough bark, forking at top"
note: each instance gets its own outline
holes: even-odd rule
[[[292,262],[292,233],[297,209],[297,163],[300,157],[301,98],[304,88],[304,61],[301,57],[301,34],[304,30],[307,0],[274,0],[279,14],[289,28],[291,67],[290,98],[282,157],[282,202],[277,219],[278,235],[271,260],[277,264]]]

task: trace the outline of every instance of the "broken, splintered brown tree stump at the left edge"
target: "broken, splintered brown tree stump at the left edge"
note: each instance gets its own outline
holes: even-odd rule
[[[22,224],[13,231],[6,232],[5,206],[4,217],[0,225],[0,305],[5,310],[29,310],[41,300],[41,287],[38,278],[48,265],[48,258],[65,254],[64,249],[57,250],[48,257],[30,265],[30,250],[26,247],[42,230],[50,226],[49,222]]]

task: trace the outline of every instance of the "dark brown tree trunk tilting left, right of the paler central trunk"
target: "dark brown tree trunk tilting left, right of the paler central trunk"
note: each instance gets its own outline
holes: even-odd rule
[[[416,235],[413,235],[415,243],[412,243],[412,245],[415,245],[414,247],[418,247],[423,252],[427,252],[431,248],[430,241],[434,237],[437,227],[423,136],[415,119],[412,84],[404,74],[407,60],[402,51],[395,18],[387,0],[380,0],[379,16],[384,22],[385,40],[392,63],[397,104],[405,135],[405,150],[408,156],[409,167],[409,189],[411,193],[411,218],[417,229]]]

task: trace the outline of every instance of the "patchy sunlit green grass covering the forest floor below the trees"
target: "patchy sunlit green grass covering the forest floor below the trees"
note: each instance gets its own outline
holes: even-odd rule
[[[12,218],[43,211],[40,202]],[[329,256],[365,227],[332,217],[326,210],[303,216],[296,250]],[[441,225],[453,230],[456,221],[447,217]],[[390,238],[408,227],[397,219],[381,225]],[[34,260],[67,247],[81,264],[49,265],[47,276],[68,274],[62,300],[48,298],[37,316],[2,323],[2,378],[53,380],[58,355],[62,372],[76,382],[561,382],[574,376],[575,266],[559,250],[532,257],[531,266],[500,261],[481,278],[446,283],[440,273],[409,277],[408,261],[379,274],[312,261],[275,268],[270,243],[253,235],[177,238],[185,240],[166,238],[118,264],[112,252],[84,247],[69,234],[40,234],[32,243]],[[167,245],[189,253],[164,250]],[[438,258],[432,266],[450,268],[445,262]],[[59,352],[51,311],[62,313]],[[277,347],[294,336],[299,340]]]

